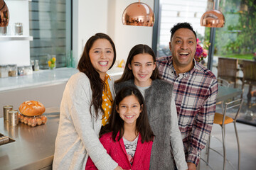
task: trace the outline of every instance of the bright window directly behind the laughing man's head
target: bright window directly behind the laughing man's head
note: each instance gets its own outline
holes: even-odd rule
[[[158,33],[154,32],[157,34],[156,57],[171,55],[169,50],[169,41],[171,38],[170,30],[176,23],[191,23],[198,38],[203,40],[205,28],[200,26],[200,19],[206,11],[207,2],[208,0],[155,1],[155,4],[158,3],[159,5],[159,13],[157,13],[159,15]]]

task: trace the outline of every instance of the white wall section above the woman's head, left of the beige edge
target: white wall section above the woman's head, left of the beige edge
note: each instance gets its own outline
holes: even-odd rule
[[[107,33],[107,3],[108,0],[73,1],[73,56],[78,60],[92,35]]]

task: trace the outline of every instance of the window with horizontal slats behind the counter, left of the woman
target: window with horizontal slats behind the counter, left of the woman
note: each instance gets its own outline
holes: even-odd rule
[[[36,0],[29,2],[31,60],[40,69],[48,69],[50,55],[56,56],[56,67],[70,67],[72,59],[72,1]]]

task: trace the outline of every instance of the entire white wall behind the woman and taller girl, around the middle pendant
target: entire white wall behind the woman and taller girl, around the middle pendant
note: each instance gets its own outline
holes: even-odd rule
[[[117,60],[126,60],[129,50],[139,43],[152,42],[152,27],[123,26],[124,9],[136,0],[73,1],[73,56],[82,55],[85,42],[95,33],[110,35],[117,48]],[[142,0],[154,9],[154,0]]]

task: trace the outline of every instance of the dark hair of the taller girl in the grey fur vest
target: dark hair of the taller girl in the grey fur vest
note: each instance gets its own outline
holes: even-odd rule
[[[153,57],[154,63],[156,63],[156,56],[154,55],[154,51],[149,47],[148,45],[135,45],[132,47],[132,50],[130,50],[129,55],[127,57],[127,63],[125,64],[124,73],[122,74],[122,77],[115,81],[115,83],[120,83],[122,81],[127,81],[129,79],[134,79],[134,74],[132,74],[132,69],[129,69],[129,64],[132,64],[132,59],[135,55],[139,54],[149,54]],[[150,79],[161,79],[159,76],[159,69],[156,67],[150,77]]]

